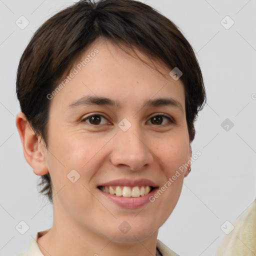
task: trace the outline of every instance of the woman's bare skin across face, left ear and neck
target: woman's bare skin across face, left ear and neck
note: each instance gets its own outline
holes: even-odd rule
[[[26,161],[36,175],[49,173],[53,183],[53,225],[37,244],[51,256],[155,255],[158,228],[175,207],[189,166],[154,202],[135,209],[106,199],[97,185],[119,178],[147,178],[161,187],[190,159],[183,84],[168,75],[166,66],[155,62],[164,78],[100,37],[81,59],[95,48],[99,50],[95,57],[50,100],[47,149],[24,114],[16,116]],[[121,105],[68,108],[84,95],[105,96]],[[174,98],[183,111],[171,105],[142,106],[158,97]],[[81,120],[95,112],[103,115],[99,124]],[[175,123],[165,117],[160,124],[154,122],[151,117],[159,112]],[[123,118],[131,123],[125,132],[118,127]],[[74,183],[66,177],[72,169],[80,175]],[[127,233],[118,228],[123,221],[131,227]]]

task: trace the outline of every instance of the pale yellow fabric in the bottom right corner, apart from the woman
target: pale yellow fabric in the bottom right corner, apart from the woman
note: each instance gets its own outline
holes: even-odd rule
[[[216,256],[256,255],[256,199],[233,225],[234,229],[224,237]]]

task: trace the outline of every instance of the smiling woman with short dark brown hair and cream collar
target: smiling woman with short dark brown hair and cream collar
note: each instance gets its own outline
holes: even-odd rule
[[[35,32],[16,91],[24,156],[54,213],[23,254],[177,255],[157,233],[206,99],[177,27],[138,1],[79,1]]]

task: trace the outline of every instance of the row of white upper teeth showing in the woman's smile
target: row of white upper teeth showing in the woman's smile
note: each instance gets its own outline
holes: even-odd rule
[[[140,195],[148,194],[150,186],[99,186],[99,189],[117,196],[139,197]]]

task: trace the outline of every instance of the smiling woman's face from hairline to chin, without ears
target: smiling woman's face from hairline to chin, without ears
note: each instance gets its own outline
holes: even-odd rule
[[[44,154],[54,217],[119,242],[144,240],[168,218],[185,170],[172,176],[191,151],[183,85],[157,67],[166,78],[98,38],[53,93]]]

